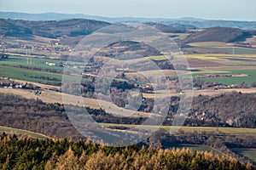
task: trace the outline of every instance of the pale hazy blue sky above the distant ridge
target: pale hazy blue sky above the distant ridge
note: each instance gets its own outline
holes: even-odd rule
[[[0,0],[0,11],[256,20],[256,0]]]

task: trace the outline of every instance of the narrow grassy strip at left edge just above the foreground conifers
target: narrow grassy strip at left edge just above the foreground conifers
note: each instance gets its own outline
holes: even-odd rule
[[[8,133],[8,134],[17,134],[17,135],[28,135],[34,139],[49,139],[48,136],[41,134],[41,133],[33,133],[27,130],[21,130],[12,127],[3,127],[0,126],[0,133]]]

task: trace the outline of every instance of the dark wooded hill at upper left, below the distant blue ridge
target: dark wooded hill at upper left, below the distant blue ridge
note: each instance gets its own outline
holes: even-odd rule
[[[85,36],[104,26],[108,22],[98,20],[60,20],[60,21],[31,21],[31,20],[4,20],[0,19],[0,35],[12,37],[76,37]]]

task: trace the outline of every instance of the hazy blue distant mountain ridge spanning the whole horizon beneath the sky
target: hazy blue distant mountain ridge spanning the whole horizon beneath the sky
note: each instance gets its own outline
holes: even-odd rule
[[[164,19],[164,18],[133,18],[133,17],[120,17],[110,18],[95,15],[86,14],[57,14],[57,13],[44,13],[44,14],[26,14],[16,12],[0,12],[0,18],[13,19],[13,20],[70,20],[70,19],[87,19],[87,20],[102,20],[110,23],[147,23],[156,22],[159,24],[165,24],[167,26],[172,25],[190,25],[198,28],[209,27],[233,27],[245,30],[256,29],[256,21],[234,21],[234,20],[202,20],[191,17],[184,17],[181,19]]]

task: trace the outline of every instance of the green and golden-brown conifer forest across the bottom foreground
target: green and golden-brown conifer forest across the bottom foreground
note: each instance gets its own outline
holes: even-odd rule
[[[30,139],[3,133],[0,169],[256,169],[234,158],[189,149],[113,148],[89,140]]]

